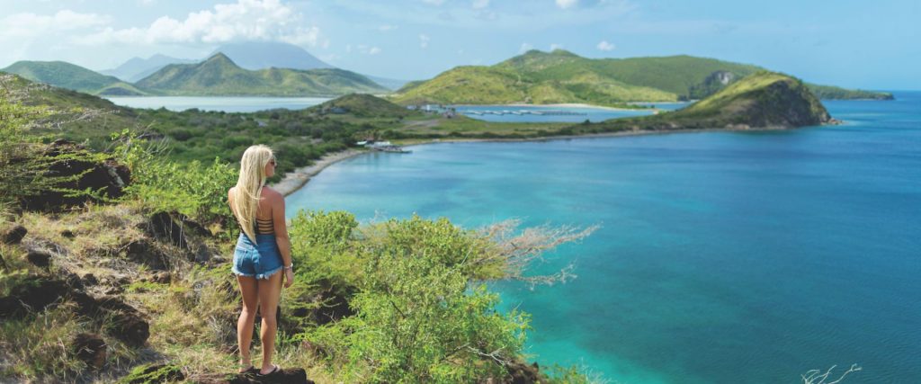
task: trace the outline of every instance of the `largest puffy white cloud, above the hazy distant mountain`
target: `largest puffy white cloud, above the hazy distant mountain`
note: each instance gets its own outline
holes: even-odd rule
[[[81,39],[85,43],[123,42],[220,43],[227,41],[286,41],[323,46],[320,29],[304,27],[303,16],[279,0],[238,0],[190,13],[184,20],[159,17],[146,28],[103,29]]]

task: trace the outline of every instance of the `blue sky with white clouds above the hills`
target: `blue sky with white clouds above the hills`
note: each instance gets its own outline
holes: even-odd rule
[[[806,81],[921,89],[921,1],[0,0],[0,68],[93,70],[227,42],[284,41],[365,75],[426,79],[530,49],[589,58],[690,54]]]

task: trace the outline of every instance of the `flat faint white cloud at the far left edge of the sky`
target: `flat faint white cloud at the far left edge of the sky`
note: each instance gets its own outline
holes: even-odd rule
[[[17,13],[0,19],[0,38],[29,38],[105,25],[110,17],[64,9],[54,15]]]

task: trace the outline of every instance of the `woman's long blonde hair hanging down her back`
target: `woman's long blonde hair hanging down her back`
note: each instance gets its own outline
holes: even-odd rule
[[[253,224],[256,220],[256,211],[262,200],[262,185],[265,184],[265,165],[274,158],[272,148],[266,145],[252,145],[243,152],[239,160],[239,179],[237,189],[230,200],[233,214],[237,216],[239,227],[256,242],[256,231]]]

